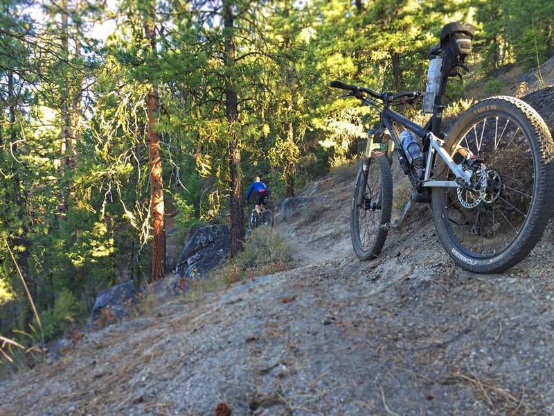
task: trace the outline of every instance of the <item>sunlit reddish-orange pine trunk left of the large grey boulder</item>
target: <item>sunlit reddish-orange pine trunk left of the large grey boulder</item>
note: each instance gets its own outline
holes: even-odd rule
[[[152,4],[152,8],[155,3]],[[156,53],[156,29],[154,26],[154,10],[150,17],[145,17],[145,33],[152,53]],[[154,85],[146,96],[146,117],[148,132],[148,153],[150,167],[150,196],[152,205],[152,274],[151,281],[156,281],[166,275],[166,230],[164,229],[165,207],[163,205],[163,175],[161,168],[160,137],[155,131],[159,117],[158,89]]]

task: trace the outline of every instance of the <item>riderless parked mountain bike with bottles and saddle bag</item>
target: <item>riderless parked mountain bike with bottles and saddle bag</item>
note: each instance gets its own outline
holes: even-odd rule
[[[465,69],[472,26],[451,23],[429,53],[431,63],[420,126],[391,110],[415,103],[420,92],[372,91],[333,81],[380,113],[368,132],[350,216],[352,245],[361,260],[375,259],[388,230],[400,227],[414,202],[431,203],[440,241],[454,262],[473,272],[501,272],[517,264],[541,238],[553,205],[554,144],[535,110],[517,98],[496,96],[476,103],[446,136],[440,132],[449,76]],[[400,132],[398,125],[407,130]],[[396,155],[413,191],[391,223]]]

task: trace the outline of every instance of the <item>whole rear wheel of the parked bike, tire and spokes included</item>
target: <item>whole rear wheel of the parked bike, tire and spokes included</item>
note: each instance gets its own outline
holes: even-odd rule
[[[440,241],[466,270],[515,266],[541,239],[551,216],[554,144],[546,124],[523,101],[488,98],[461,116],[445,149],[455,161],[473,154],[481,162],[473,190],[433,189]],[[454,179],[442,161],[435,171]]]

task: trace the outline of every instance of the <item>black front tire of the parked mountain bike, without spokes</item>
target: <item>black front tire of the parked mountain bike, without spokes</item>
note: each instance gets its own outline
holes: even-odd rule
[[[372,170],[379,173],[380,176],[380,184],[375,184],[375,189],[373,190],[370,189],[370,174],[372,173]],[[374,153],[368,162],[368,184],[366,184],[366,190],[361,189],[363,183],[362,173],[362,167],[360,166],[356,179],[352,207],[350,210],[350,237],[352,239],[352,246],[357,257],[361,261],[368,261],[375,259],[379,255],[388,234],[393,209],[393,177],[391,173],[391,165],[388,163],[387,157],[381,153]],[[365,235],[364,232],[368,231],[368,225],[366,223],[364,229],[364,225],[360,224],[360,217],[361,215],[364,215],[362,211],[364,211],[365,215],[368,216],[368,211],[371,210],[359,207],[357,200],[359,192],[364,191],[364,193],[366,193],[369,191],[370,195],[373,195],[375,191],[377,191],[377,188],[379,191],[381,209],[373,211],[375,212],[375,216],[373,216],[373,222],[375,223],[373,227],[376,227],[375,235],[368,235],[368,243],[364,243],[362,236]]]

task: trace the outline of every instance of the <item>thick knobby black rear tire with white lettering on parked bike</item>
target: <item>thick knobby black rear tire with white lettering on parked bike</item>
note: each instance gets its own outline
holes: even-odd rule
[[[506,241],[507,244],[501,251],[496,252],[496,250],[494,250],[494,252],[489,255],[478,254],[472,251],[472,249],[465,247],[454,231],[454,229],[458,227],[458,224],[456,221],[449,218],[449,214],[447,213],[447,202],[449,202],[446,196],[447,191],[443,188],[434,188],[432,196],[434,223],[440,241],[443,243],[449,256],[458,266],[461,266],[465,270],[478,273],[502,272],[523,260],[531,250],[535,248],[535,245],[542,237],[548,220],[551,218],[552,198],[554,197],[554,187],[552,186],[552,180],[554,178],[554,144],[552,137],[541,116],[533,110],[533,107],[524,103],[524,101],[513,97],[497,96],[485,99],[470,107],[470,109],[461,116],[454,128],[452,128],[452,132],[449,133],[447,141],[445,142],[445,149],[450,155],[454,155],[458,145],[462,144],[464,138],[465,144],[467,144],[466,136],[470,131],[468,129],[471,129],[472,126],[479,125],[479,123],[483,121],[483,132],[485,132],[487,117],[493,120],[494,117],[496,117],[498,124],[498,114],[508,121],[513,121],[517,127],[521,129],[521,135],[524,137],[524,141],[521,141],[521,143],[527,143],[530,151],[526,153],[521,152],[519,156],[521,158],[525,156],[528,157],[528,159],[533,159],[533,167],[529,164],[524,165],[528,171],[533,171],[533,175],[531,175],[533,185],[530,186],[531,189],[528,190],[529,193],[533,193],[529,196],[530,202],[528,202],[527,215],[523,216],[523,219],[521,219],[521,229],[519,229],[519,232],[515,229],[515,238],[511,243]],[[506,125],[508,125],[508,121],[506,121]],[[492,131],[492,127],[490,130]],[[483,145],[483,132],[481,132],[481,144],[479,144],[479,146],[485,146]],[[517,135],[517,130],[515,135]],[[477,131],[475,137],[476,139],[478,138]],[[501,149],[497,150],[498,146],[500,146],[501,139],[502,135],[497,144],[497,130],[495,130],[494,150],[492,150],[491,153],[494,155],[493,157],[497,157],[495,153],[502,152]],[[514,139],[512,139],[512,141],[513,140]],[[489,142],[492,143],[492,141]],[[508,144],[508,147],[509,146],[510,144]],[[508,151],[509,150],[506,150],[506,152]],[[440,160],[437,164],[436,171],[440,172],[443,168],[444,162]],[[446,169],[446,171],[448,171],[448,169]],[[440,178],[445,179],[447,175],[448,173],[445,172],[440,175]],[[501,176],[500,173],[499,177]],[[506,177],[509,178],[509,176]],[[524,182],[524,180],[520,182]],[[525,186],[526,185],[524,185],[524,187]],[[503,191],[498,191],[499,195],[502,195],[502,192]],[[484,202],[481,203],[484,204]],[[490,235],[488,236],[488,238],[491,239],[490,241],[494,239],[494,229],[496,225],[494,220],[494,207],[492,207],[492,212],[492,237]],[[477,217],[479,218],[477,221],[479,222],[478,232],[480,235],[480,214],[478,214]],[[497,222],[500,223],[498,218],[499,217],[497,217]],[[506,218],[506,220],[510,223],[508,218]],[[467,223],[470,223],[470,221],[467,220],[465,224]],[[510,223],[510,225],[512,225],[512,223]],[[465,227],[469,228],[467,225],[465,225]],[[508,228],[507,225],[506,228]],[[502,232],[501,227],[497,227],[497,234],[502,234]],[[475,231],[472,230],[472,233],[475,234]],[[469,235],[469,232],[467,232],[467,234]],[[481,238],[483,239],[483,237]],[[499,236],[497,238],[499,239]],[[470,243],[465,243],[465,245],[469,246]],[[483,245],[483,241],[481,241],[481,245]]]

